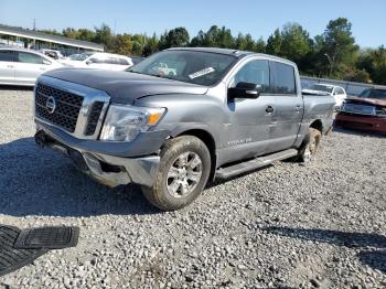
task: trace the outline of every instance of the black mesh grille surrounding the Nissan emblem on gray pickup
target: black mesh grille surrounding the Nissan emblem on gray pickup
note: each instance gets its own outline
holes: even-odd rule
[[[55,110],[50,114],[46,101],[52,96],[56,100]],[[35,93],[36,116],[44,120],[74,132],[83,97],[47,85],[37,84]]]

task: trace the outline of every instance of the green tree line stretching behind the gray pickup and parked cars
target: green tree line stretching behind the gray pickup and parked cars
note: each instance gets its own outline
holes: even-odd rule
[[[325,30],[311,38],[298,23],[287,23],[265,41],[249,33],[233,35],[223,26],[211,26],[191,38],[185,28],[165,31],[160,36],[147,34],[114,34],[107,24],[89,29],[67,28],[62,32],[41,32],[105,45],[107,52],[148,56],[157,51],[176,46],[224,47],[267,53],[298,64],[302,75],[331,77],[353,82],[386,84],[386,50],[361,49],[352,34],[352,24],[345,18],[331,20]]]

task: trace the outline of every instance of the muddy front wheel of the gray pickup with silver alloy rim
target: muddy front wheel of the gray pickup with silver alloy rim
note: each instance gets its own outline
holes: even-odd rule
[[[211,154],[205,143],[193,136],[178,137],[162,149],[154,184],[142,186],[142,192],[161,210],[179,210],[201,194],[210,172]]]

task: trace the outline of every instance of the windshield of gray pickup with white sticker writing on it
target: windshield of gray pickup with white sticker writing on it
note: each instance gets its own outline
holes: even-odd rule
[[[208,52],[163,51],[149,56],[128,72],[208,86],[218,82],[236,60],[233,55]]]

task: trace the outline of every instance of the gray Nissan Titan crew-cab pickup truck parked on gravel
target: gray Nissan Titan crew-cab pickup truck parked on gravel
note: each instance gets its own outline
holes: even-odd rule
[[[301,94],[298,68],[287,60],[170,49],[127,72],[42,75],[35,140],[101,183],[140,184],[153,205],[178,210],[214,178],[289,158],[310,161],[333,107],[333,97]]]

